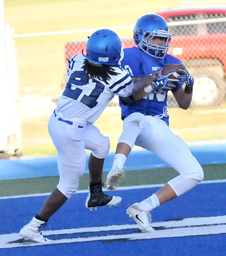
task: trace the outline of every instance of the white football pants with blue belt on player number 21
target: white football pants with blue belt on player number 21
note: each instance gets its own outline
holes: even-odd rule
[[[65,119],[60,113],[51,115],[48,130],[57,148],[57,188],[70,198],[77,191],[79,179],[86,167],[85,148],[91,150],[93,156],[105,158],[109,152],[109,139],[96,126],[87,125],[86,120]]]

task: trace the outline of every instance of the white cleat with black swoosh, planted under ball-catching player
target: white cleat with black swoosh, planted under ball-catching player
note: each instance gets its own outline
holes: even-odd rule
[[[146,210],[140,210],[137,206],[138,203],[131,205],[127,208],[126,213],[130,218],[133,218],[139,225],[142,232],[153,232],[155,229],[151,228],[151,214]]]

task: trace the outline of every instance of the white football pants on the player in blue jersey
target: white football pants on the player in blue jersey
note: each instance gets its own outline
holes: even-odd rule
[[[135,137],[133,138],[134,129]],[[182,195],[203,180],[201,165],[191,154],[187,144],[174,135],[169,126],[161,119],[133,113],[123,122],[123,133],[118,141],[125,142],[133,148],[134,143],[158,155],[165,163],[179,172],[179,176],[168,181],[177,196]]]

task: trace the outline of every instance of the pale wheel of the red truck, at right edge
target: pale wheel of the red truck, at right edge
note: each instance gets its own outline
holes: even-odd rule
[[[225,80],[210,68],[192,72],[195,82],[191,106],[217,106],[225,97]]]

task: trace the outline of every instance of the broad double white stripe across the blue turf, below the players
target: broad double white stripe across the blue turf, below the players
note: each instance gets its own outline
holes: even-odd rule
[[[39,245],[54,245],[59,243],[75,243],[75,242],[89,242],[89,241],[105,241],[105,240],[147,240],[155,238],[170,238],[170,237],[187,237],[187,236],[206,236],[211,234],[225,234],[226,233],[226,216],[211,216],[198,218],[185,218],[180,221],[164,221],[152,224],[153,228],[164,228],[156,230],[151,233],[132,233],[123,234],[125,229],[135,229],[138,225],[112,225],[100,226],[92,228],[79,229],[64,229],[64,230],[47,230],[42,232],[44,236],[59,235],[59,234],[75,234],[80,233],[81,237],[66,238],[52,240],[46,243],[8,243],[18,240],[19,234],[2,234],[0,235],[0,249],[24,246],[39,246]],[[122,234],[113,234],[105,236],[89,236],[82,237],[84,232],[107,232],[114,230],[122,230]]]

